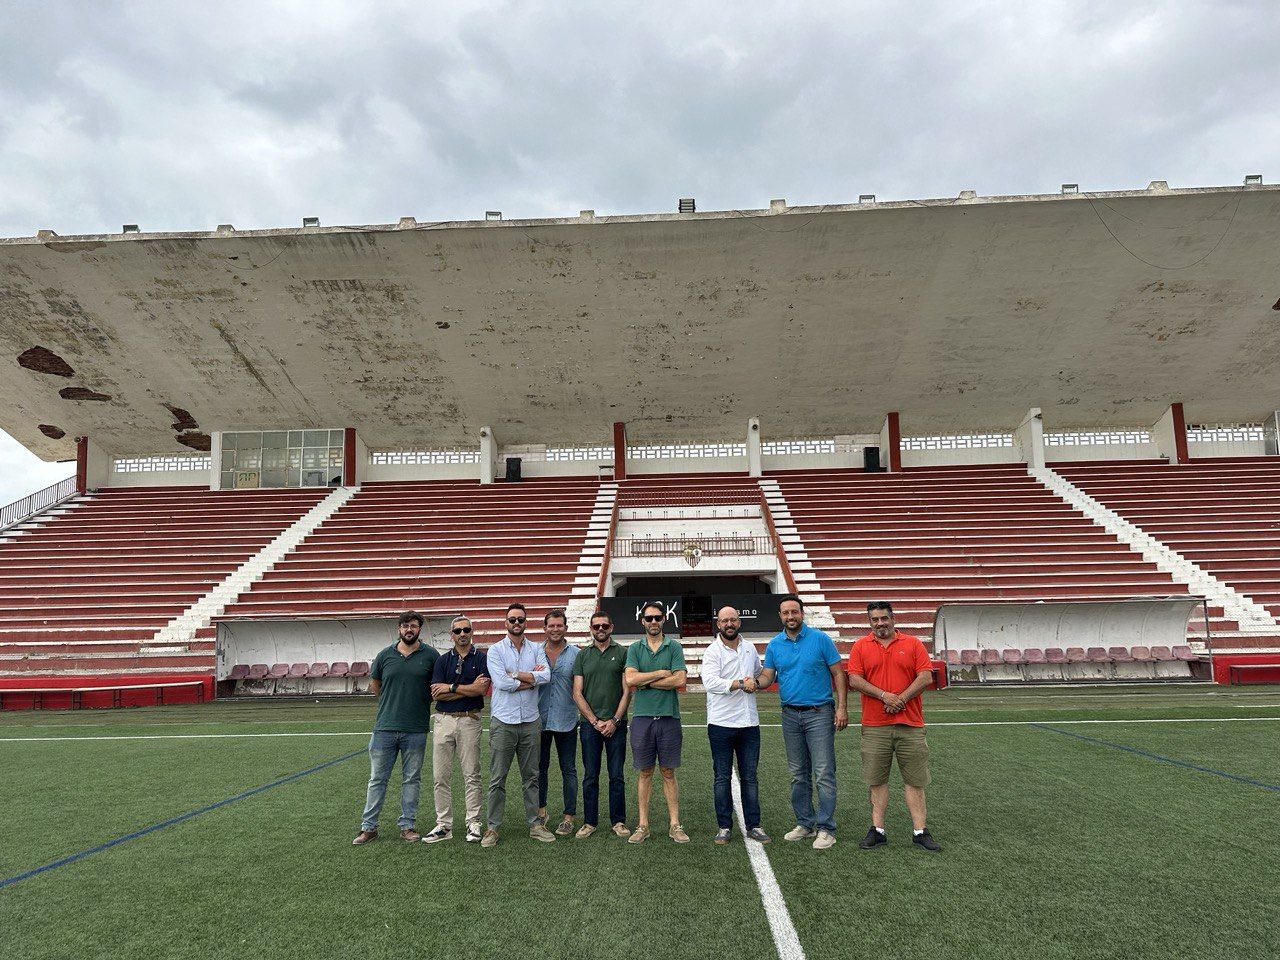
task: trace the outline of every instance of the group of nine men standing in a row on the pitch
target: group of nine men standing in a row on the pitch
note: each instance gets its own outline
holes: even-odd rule
[[[746,837],[769,842],[760,824],[760,718],[756,691],[777,682],[782,736],[791,772],[791,808],[796,826],[788,841],[812,840],[824,850],[836,842],[836,732],[849,726],[846,691],[861,695],[861,767],[870,795],[872,826],[859,844],[887,842],[884,815],[893,758],[904,780],[913,820],[913,842],[941,846],[925,826],[924,787],[929,782],[928,746],[920,694],[932,677],[924,645],[896,630],[887,602],[868,604],[872,631],[841,658],[832,639],[804,622],[804,603],[788,595],[780,603],[783,630],[759,657],[741,639],[741,618],[732,607],[717,613],[717,635],[701,663],[707,691],[707,735],[712,751],[716,844],[732,836],[735,786]],[[649,806],[654,771],[662,783],[668,837],[687,844],[680,817],[684,727],[680,689],[687,680],[678,640],[664,635],[660,603],[640,608],[644,637],[630,646],[613,639],[613,621],[591,616],[590,643],[566,640],[564,611],[543,618],[545,640],[525,637],[527,613],[520,603],[507,609],[506,636],[488,652],[476,649],[471,621],[449,626],[453,646],[438,654],[421,640],[422,617],[401,616],[398,640],[372,663],[378,716],[370,740],[370,780],[356,845],[378,836],[378,818],[397,756],[401,758],[401,837],[428,844],[453,837],[453,771],[465,785],[466,840],[483,847],[498,844],[512,762],[518,768],[529,835],[543,842],[590,837],[599,828],[602,760],[608,777],[609,828],[631,844],[652,836]],[[489,708],[489,786],[483,795],[481,712]],[[436,721],[430,726],[431,704]],[[435,827],[416,829],[426,736],[431,732]],[[627,827],[625,764],[627,744],[637,772],[635,828]],[[582,753],[582,823],[577,826],[577,750]],[[552,753],[561,771],[562,813],[550,828],[548,774]],[[733,782],[733,768],[737,782]],[[814,795],[817,794],[817,804]],[[484,806],[484,809],[481,809]],[[483,819],[481,819],[483,817]]]

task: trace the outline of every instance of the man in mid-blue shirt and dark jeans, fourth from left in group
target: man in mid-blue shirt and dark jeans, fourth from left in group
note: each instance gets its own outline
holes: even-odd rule
[[[577,704],[573,703],[573,660],[577,648],[564,640],[564,611],[550,611],[543,617],[547,641],[543,653],[550,667],[550,682],[538,687],[538,712],[543,724],[538,754],[538,818],[547,826],[547,780],[552,767],[552,746],[561,768],[561,792],[564,812],[556,835],[573,832],[577,813]]]

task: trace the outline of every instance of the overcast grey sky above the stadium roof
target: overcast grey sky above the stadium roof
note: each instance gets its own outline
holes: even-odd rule
[[[1280,178],[1274,3],[0,0],[0,236]],[[0,502],[65,476],[0,434]]]

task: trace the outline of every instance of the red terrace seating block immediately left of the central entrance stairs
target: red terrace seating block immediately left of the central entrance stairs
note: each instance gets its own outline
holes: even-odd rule
[[[599,576],[607,486],[605,508],[602,484],[586,477],[366,484],[220,618],[393,617],[413,608],[466,613],[476,640],[492,643],[504,632],[507,604],[521,600],[529,636],[539,639],[543,614],[564,607],[579,580]],[[214,630],[201,634],[212,639]]]

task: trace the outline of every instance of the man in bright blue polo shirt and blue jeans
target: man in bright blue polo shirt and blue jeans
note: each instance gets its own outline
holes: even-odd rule
[[[764,649],[758,684],[778,681],[782,741],[791,768],[795,829],[783,838],[814,837],[814,850],[836,845],[836,731],[849,726],[845,672],[835,641],[804,622],[804,602],[787,594],[778,603],[783,630]],[[813,808],[814,781],[818,810]]]

